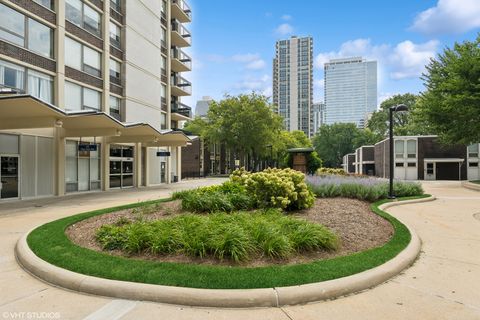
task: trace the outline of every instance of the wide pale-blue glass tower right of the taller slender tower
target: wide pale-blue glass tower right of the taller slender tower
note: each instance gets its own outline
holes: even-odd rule
[[[326,124],[355,123],[363,128],[367,115],[377,109],[377,62],[333,59],[324,70]]]

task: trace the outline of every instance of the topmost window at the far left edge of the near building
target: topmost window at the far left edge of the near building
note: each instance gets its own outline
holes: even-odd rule
[[[53,56],[53,31],[49,27],[26,18],[23,14],[0,4],[0,38],[43,56]],[[26,22],[26,23],[25,23]]]

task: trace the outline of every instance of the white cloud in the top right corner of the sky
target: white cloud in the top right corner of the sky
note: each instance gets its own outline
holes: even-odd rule
[[[439,0],[415,17],[410,30],[425,34],[455,34],[480,27],[479,0]]]

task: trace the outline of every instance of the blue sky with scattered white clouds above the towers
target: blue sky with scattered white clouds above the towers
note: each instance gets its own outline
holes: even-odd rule
[[[378,99],[424,90],[431,57],[480,32],[480,0],[187,0],[192,7],[194,107],[256,91],[271,96],[275,42],[313,37],[314,102],[323,101],[323,64],[362,56],[378,61]]]

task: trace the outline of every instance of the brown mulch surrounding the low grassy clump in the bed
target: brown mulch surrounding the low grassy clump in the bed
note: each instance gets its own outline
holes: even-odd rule
[[[145,221],[151,221],[169,218],[178,214],[181,214],[180,200],[161,203],[158,211],[149,214],[142,215],[130,209],[95,216],[71,225],[67,228],[66,234],[72,242],[79,246],[95,251],[103,251],[95,240],[95,232],[102,225],[114,224],[120,219],[135,221],[141,218]],[[301,256],[294,256],[287,261],[259,257],[243,263],[242,266],[258,267],[274,264],[297,264],[344,256],[382,246],[388,242],[393,235],[392,225],[382,217],[373,213],[368,202],[354,199],[316,199],[315,205],[312,208],[297,212],[294,216],[328,227],[340,238],[341,247],[337,251],[320,250]],[[220,262],[213,258],[200,259],[184,255],[160,256],[149,253],[127,255],[119,250],[108,251],[108,253],[117,256],[128,256],[135,259],[162,262],[238,265],[229,260]]]

